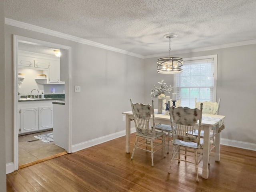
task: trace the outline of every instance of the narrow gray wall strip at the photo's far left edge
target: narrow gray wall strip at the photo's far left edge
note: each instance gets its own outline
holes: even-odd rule
[[[4,6],[5,1],[0,1],[0,192],[6,191],[6,148],[5,148],[5,140],[6,140],[6,111],[5,109],[7,107],[10,107],[10,105],[6,104],[5,100],[5,85],[6,85],[6,79],[5,79],[5,56],[4,56]]]

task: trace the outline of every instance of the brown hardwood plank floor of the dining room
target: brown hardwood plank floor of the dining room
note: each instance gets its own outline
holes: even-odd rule
[[[134,144],[135,136],[131,136]],[[133,146],[131,145],[131,148]],[[209,178],[196,182],[193,164],[174,161],[170,153],[125,153],[125,137],[66,154],[7,174],[7,192],[252,192],[256,191],[256,151],[220,146],[220,162],[211,152]],[[188,157],[189,158],[189,157]]]

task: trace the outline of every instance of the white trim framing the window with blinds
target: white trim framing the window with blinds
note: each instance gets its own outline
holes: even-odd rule
[[[213,100],[214,102],[217,102],[217,60],[218,60],[218,56],[216,55],[206,55],[206,56],[199,56],[199,57],[190,57],[190,58],[183,58],[183,61],[193,61],[193,60],[202,60],[202,59],[209,59],[212,58],[213,59],[213,63],[214,63],[214,93],[213,93]],[[175,79],[175,75],[174,75],[174,92],[177,92],[176,90],[176,79]]]

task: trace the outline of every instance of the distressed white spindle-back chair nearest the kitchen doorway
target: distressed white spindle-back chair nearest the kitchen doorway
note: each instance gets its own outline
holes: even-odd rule
[[[154,101],[152,105],[132,103],[132,113],[134,116],[134,123],[136,128],[136,141],[132,151],[132,157],[134,157],[135,149],[145,150],[151,152],[151,166],[154,166],[154,153],[158,150],[164,150],[164,158],[166,157],[165,151],[165,133],[156,131],[154,116]],[[152,126],[150,126],[150,118],[152,118]]]

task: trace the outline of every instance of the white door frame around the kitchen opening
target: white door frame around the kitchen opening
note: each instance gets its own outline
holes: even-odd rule
[[[14,170],[18,170],[18,42],[24,42],[28,44],[44,46],[49,48],[56,48],[60,50],[65,50],[68,52],[68,62],[65,63],[66,69],[68,72],[65,73],[65,105],[68,105],[68,148],[66,149],[68,153],[72,152],[72,129],[71,129],[71,47],[51,42],[46,42],[42,40],[32,39],[24,36],[13,36],[13,72],[14,72],[14,96],[13,96],[13,104],[14,104],[14,117],[13,117],[13,136],[14,136],[14,143],[13,143],[13,163],[14,163]]]

